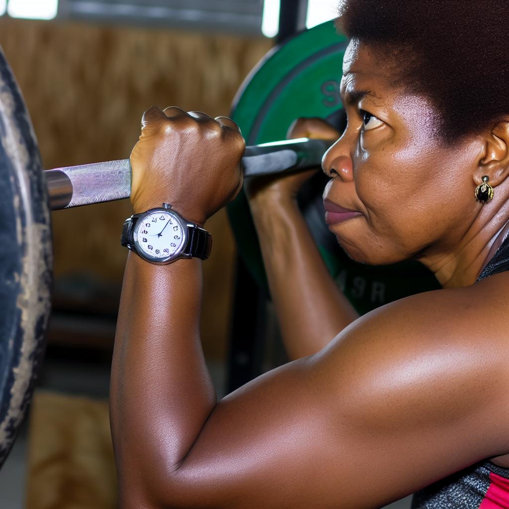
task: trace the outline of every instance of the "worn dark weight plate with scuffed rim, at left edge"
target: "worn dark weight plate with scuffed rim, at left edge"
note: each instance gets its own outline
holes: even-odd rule
[[[51,261],[37,141],[0,49],[0,466],[30,403],[42,359]]]

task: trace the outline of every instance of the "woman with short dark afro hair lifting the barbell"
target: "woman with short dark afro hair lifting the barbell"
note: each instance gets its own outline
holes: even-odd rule
[[[355,260],[418,259],[443,290],[356,320],[294,204],[304,177],[253,183],[298,360],[217,402],[202,262],[130,253],[111,382],[122,507],[369,508],[419,490],[415,507],[509,507],[507,10],[341,7],[348,127],[323,161],[329,228]],[[333,135],[317,121],[302,131]],[[151,108],[131,156],[134,211],[167,202],[205,223],[239,190],[242,153],[229,119]]]

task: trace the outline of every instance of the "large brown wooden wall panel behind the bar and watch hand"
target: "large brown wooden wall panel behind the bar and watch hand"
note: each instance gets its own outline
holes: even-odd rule
[[[249,70],[270,41],[0,19],[0,44],[31,112],[46,168],[123,159],[139,135],[143,111],[178,105],[228,114]],[[55,276],[81,275],[118,285],[127,201],[53,213]],[[204,344],[221,357],[228,332],[234,242],[225,213],[205,264]]]

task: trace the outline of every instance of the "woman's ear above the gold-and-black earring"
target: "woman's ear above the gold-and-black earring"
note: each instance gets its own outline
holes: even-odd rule
[[[499,122],[485,139],[485,151],[474,175],[476,185],[487,175],[492,186],[509,177],[509,122]]]

